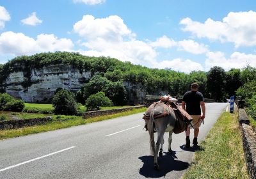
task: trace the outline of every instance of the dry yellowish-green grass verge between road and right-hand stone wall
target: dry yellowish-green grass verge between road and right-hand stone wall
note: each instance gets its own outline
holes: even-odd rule
[[[183,178],[249,178],[237,113],[221,114]]]

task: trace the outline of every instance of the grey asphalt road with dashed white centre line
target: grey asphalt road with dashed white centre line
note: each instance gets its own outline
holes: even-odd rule
[[[199,142],[227,105],[206,104]],[[196,149],[184,148],[183,132],[173,134],[173,153],[168,153],[166,134],[160,169],[154,171],[142,116],[132,114],[0,141],[0,178],[180,178]]]

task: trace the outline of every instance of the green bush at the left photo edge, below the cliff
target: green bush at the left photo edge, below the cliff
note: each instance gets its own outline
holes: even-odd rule
[[[1,111],[16,111],[20,112],[24,109],[25,104],[22,100],[17,100],[7,93],[0,95],[0,110]]]

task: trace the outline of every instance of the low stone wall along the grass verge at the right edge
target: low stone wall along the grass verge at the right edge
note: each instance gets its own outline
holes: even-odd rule
[[[242,123],[244,121],[244,123]],[[256,179],[256,134],[248,125],[248,116],[244,109],[239,109],[239,123],[243,136],[243,148],[250,178]]]

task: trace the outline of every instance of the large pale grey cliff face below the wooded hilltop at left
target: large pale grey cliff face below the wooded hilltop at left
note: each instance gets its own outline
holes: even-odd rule
[[[90,77],[90,72],[80,73],[72,66],[50,65],[31,71],[31,86],[22,86],[22,82],[28,80],[24,72],[13,72],[3,82],[3,88],[25,102],[49,102],[57,88],[76,92]]]

